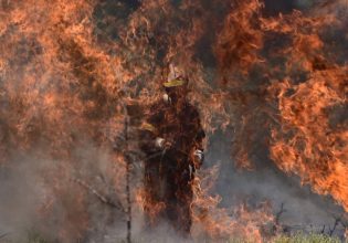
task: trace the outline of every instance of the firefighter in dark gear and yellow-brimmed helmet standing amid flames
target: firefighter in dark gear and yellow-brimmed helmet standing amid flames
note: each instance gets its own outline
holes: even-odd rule
[[[170,66],[164,98],[150,106],[140,129],[148,223],[166,219],[184,235],[192,223],[192,180],[203,162],[205,136],[197,108],[187,99],[187,84]]]

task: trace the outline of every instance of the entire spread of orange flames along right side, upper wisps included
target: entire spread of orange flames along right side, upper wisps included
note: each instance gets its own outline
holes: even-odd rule
[[[257,2],[253,3],[244,4],[256,6]],[[333,47],[323,40],[328,27],[341,29],[344,21],[330,11],[313,15],[293,11],[265,18],[257,8],[253,10],[250,15],[256,15],[257,24],[251,25],[247,22],[250,18],[246,23],[241,23],[245,27],[244,31],[253,32],[253,38],[256,38],[249,39],[250,42],[257,40],[256,43],[260,43],[251,45],[244,41],[245,55],[253,53],[256,57],[238,67],[243,73],[261,70],[263,74],[259,80],[264,83],[253,84],[251,78],[255,77],[240,77],[236,72],[223,83],[231,91],[230,101],[241,104],[234,113],[242,118],[232,123],[236,127],[233,155],[238,166],[252,169],[251,158],[260,147],[264,149],[267,145],[271,159],[280,169],[298,175],[303,183],[309,183],[317,193],[330,194],[347,211],[348,183],[344,176],[348,168],[347,124],[335,118],[347,105],[347,66],[338,63],[337,56],[328,54]],[[240,14],[247,13],[242,12]],[[242,17],[239,19],[243,20]],[[273,41],[275,45],[267,49],[266,41]],[[243,56],[238,55],[232,45],[226,51]],[[238,61],[229,61],[229,56],[233,55],[220,55],[221,62],[239,64]],[[338,54],[338,57],[341,56]],[[246,88],[254,88],[254,94]],[[260,134],[270,125],[270,135]]]

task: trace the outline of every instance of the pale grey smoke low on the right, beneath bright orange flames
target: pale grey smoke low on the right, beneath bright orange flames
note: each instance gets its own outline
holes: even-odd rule
[[[205,159],[207,168],[220,165],[219,177],[212,190],[222,198],[220,207],[238,207],[241,203],[257,207],[267,201],[276,214],[284,203],[285,211],[280,218],[282,224],[315,232],[320,232],[323,225],[328,229],[337,216],[345,213],[330,197],[318,196],[309,186],[300,184],[299,178],[288,177],[280,171],[266,159],[266,155],[262,155],[264,151],[255,155],[260,161],[255,170],[238,169],[235,161],[231,159],[230,142],[224,137],[225,134],[218,133],[211,138]],[[336,233],[341,235],[344,228],[339,225]]]

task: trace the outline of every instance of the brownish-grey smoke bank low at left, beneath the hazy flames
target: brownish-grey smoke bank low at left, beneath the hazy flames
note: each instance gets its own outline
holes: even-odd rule
[[[51,241],[74,242],[101,239],[109,229],[115,232],[124,226],[120,209],[101,201],[92,191],[115,203],[122,200],[118,196],[123,193],[117,191],[122,183],[113,186],[115,165],[109,152],[86,142],[75,148],[75,168],[38,154],[45,151],[13,155],[8,161],[11,166],[1,168],[0,229],[7,239],[25,242],[28,235],[38,233]]]

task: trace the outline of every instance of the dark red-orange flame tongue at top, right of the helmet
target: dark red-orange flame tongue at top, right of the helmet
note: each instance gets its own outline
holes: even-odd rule
[[[221,72],[247,73],[263,47],[263,32],[257,29],[263,4],[257,0],[235,1],[224,20],[215,43],[217,60]],[[256,22],[256,23],[255,23]]]

